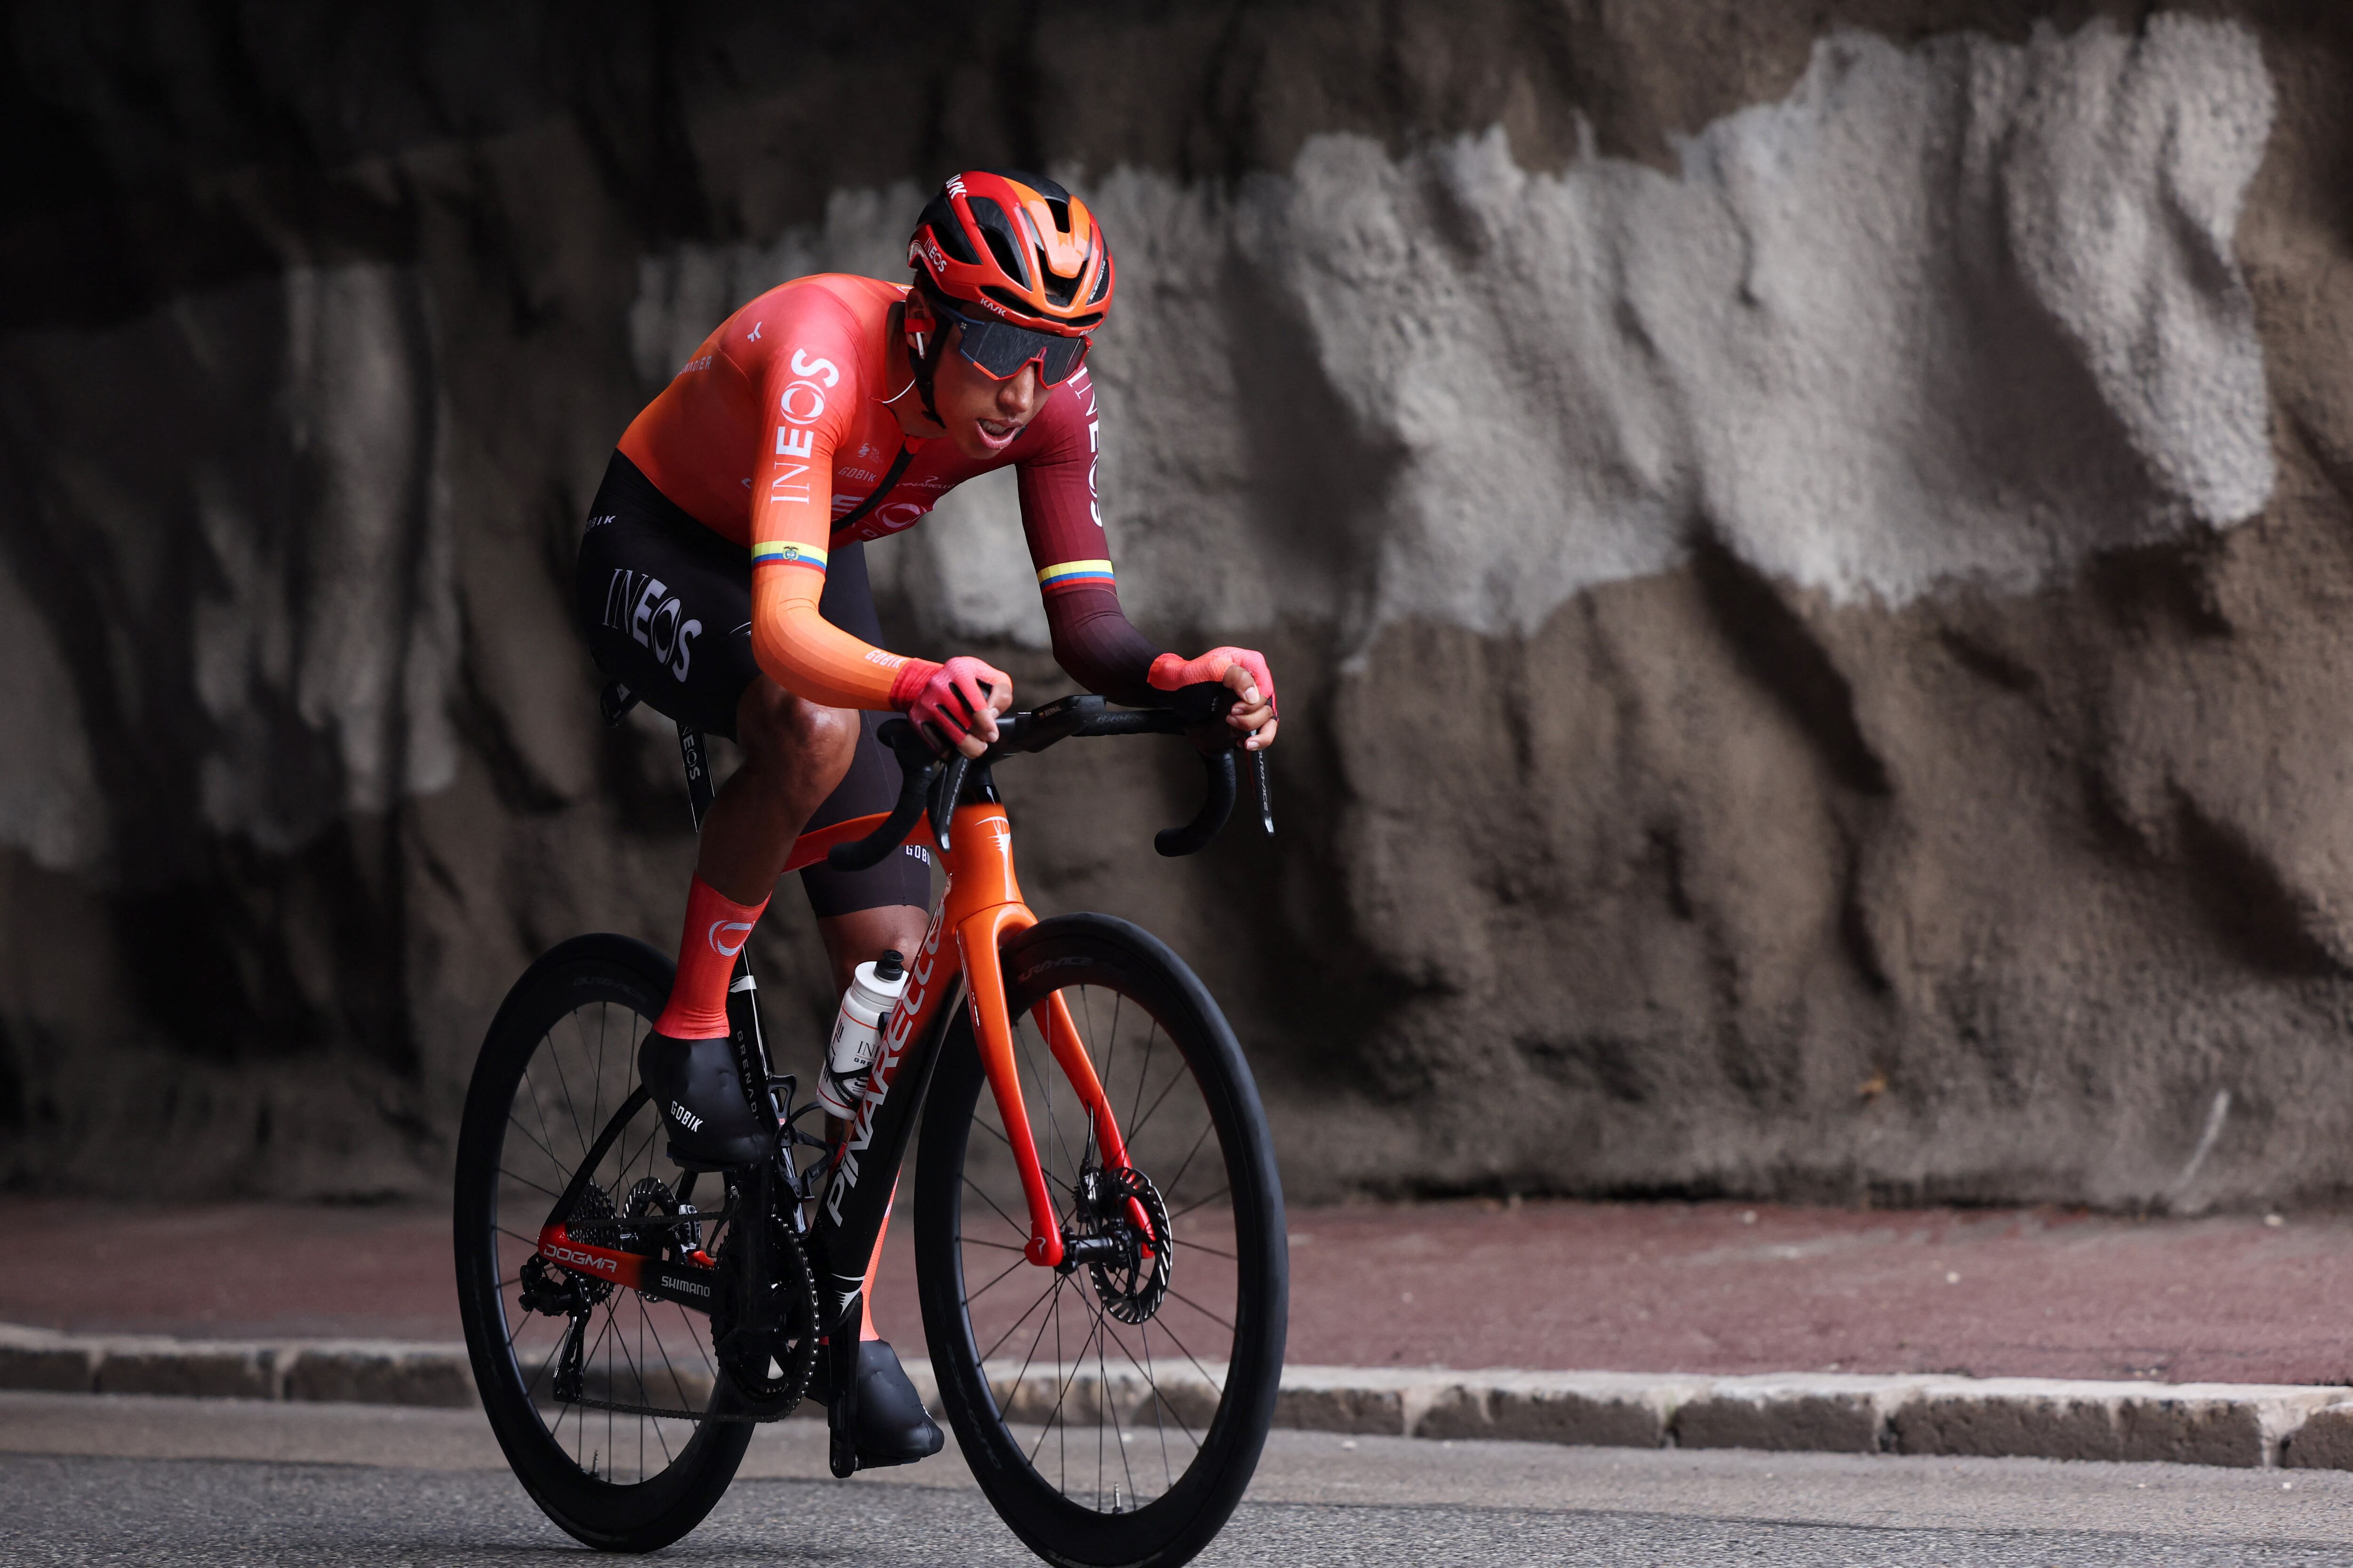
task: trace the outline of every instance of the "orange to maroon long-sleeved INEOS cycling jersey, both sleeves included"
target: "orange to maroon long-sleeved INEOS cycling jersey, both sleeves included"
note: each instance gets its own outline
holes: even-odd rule
[[[1094,496],[1101,423],[1085,369],[1049,388],[1021,435],[991,458],[946,437],[911,440],[885,400],[889,308],[899,284],[847,273],[795,277],[704,339],[621,435],[621,454],[704,527],[751,550],[753,656],[786,691],[833,708],[889,708],[911,663],[816,614],[828,552],[915,527],[965,480],[1016,468],[1021,531],[1045,595],[1054,658],[1113,701],[1148,703],[1158,649],[1120,611]],[[882,482],[880,505],[835,534]]]

